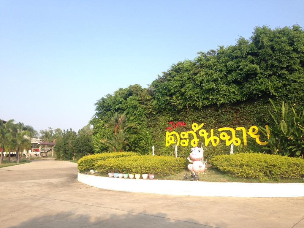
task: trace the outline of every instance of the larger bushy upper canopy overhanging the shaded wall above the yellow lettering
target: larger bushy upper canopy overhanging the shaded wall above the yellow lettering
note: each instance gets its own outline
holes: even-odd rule
[[[296,101],[303,91],[304,32],[299,26],[256,27],[250,40],[200,52],[152,82],[159,110],[232,104],[274,95]]]

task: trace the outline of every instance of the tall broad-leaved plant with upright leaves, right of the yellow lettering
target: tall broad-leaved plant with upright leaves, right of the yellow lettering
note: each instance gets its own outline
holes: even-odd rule
[[[269,134],[267,148],[271,154],[279,154],[291,157],[304,156],[304,109],[297,114],[291,106],[292,113],[288,112],[288,105],[282,103],[282,110],[270,99],[275,113],[270,115],[269,130],[260,127],[264,134]]]

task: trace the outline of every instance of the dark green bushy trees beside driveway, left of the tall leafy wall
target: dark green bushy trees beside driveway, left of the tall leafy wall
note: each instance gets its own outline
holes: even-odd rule
[[[64,130],[56,140],[55,155],[60,160],[75,160],[93,153],[92,136],[84,129],[78,131]]]

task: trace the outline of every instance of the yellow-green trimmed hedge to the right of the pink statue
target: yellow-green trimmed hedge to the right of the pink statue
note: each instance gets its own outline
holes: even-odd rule
[[[261,153],[217,155],[210,163],[226,174],[260,181],[304,177],[304,159]]]

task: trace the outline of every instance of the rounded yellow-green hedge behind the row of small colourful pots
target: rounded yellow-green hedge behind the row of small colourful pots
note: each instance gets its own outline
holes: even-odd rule
[[[168,176],[185,168],[185,159],[171,156],[131,156],[99,161],[96,170],[102,173],[155,174]]]

